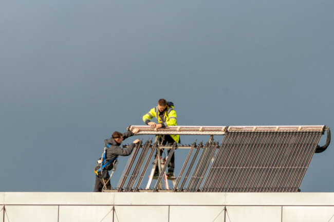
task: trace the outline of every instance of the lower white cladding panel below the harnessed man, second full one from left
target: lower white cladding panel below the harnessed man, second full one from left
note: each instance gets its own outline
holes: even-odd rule
[[[59,222],[113,221],[113,206],[59,206]]]

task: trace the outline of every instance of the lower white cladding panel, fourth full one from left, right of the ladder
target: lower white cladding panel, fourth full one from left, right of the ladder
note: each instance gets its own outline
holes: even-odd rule
[[[170,222],[224,221],[222,206],[171,206]]]

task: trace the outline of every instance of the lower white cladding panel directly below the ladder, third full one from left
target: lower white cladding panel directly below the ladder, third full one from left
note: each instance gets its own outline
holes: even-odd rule
[[[120,222],[121,221],[169,222],[169,207],[168,206],[115,206],[114,219],[115,219],[114,221],[120,221]]]

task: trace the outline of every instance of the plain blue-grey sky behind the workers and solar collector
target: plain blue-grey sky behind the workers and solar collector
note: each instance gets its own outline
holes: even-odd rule
[[[0,191],[92,191],[103,140],[143,124],[160,98],[179,125],[334,126],[333,11],[330,0],[2,1]],[[333,156],[332,144],[314,155],[303,192],[334,192]]]

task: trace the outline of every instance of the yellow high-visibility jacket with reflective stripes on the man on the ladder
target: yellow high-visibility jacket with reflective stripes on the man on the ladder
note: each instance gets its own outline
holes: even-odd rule
[[[149,113],[145,114],[143,116],[143,121],[148,124],[151,122],[151,119],[157,118],[158,123],[161,123],[162,128],[165,128],[167,126],[177,125],[176,122],[176,112],[174,110],[174,106],[167,105],[166,111],[164,113],[163,120],[159,116],[159,109],[158,106],[152,108]],[[180,135],[171,135],[171,137],[174,139],[175,142],[180,141]]]

